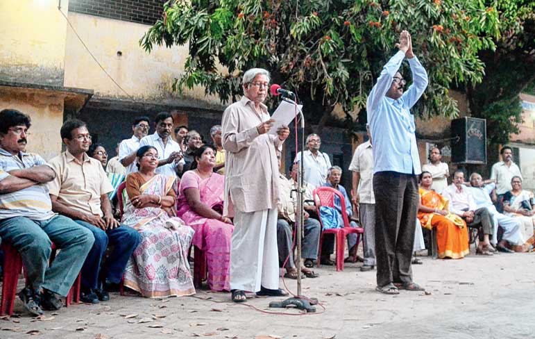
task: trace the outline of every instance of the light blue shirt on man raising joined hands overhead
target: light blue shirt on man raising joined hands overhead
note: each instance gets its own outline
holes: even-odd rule
[[[393,171],[421,174],[420,156],[416,145],[416,126],[410,108],[427,88],[427,72],[418,58],[409,59],[412,85],[397,99],[386,97],[405,53],[398,51],[384,66],[368,100],[368,124],[373,140],[373,173]]]

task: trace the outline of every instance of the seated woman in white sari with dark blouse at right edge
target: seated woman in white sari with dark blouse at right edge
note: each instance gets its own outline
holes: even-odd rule
[[[524,239],[529,245],[534,243],[535,227],[535,204],[533,193],[522,189],[522,178],[513,176],[511,179],[512,190],[504,194],[504,214],[509,217],[517,217],[523,226]]]

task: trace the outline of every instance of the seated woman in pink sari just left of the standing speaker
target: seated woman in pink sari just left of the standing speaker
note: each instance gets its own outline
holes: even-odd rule
[[[225,177],[214,173],[216,149],[204,145],[194,152],[190,170],[178,188],[177,215],[195,229],[193,245],[205,251],[208,286],[230,291],[230,238],[234,226],[223,213]]]

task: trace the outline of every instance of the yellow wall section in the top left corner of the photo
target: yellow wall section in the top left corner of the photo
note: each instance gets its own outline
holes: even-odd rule
[[[0,78],[63,85],[66,33],[58,0],[1,0]]]

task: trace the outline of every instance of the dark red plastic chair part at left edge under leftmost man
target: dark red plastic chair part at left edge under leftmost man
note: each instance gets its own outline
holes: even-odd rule
[[[22,258],[19,252],[8,243],[2,244],[3,259],[3,283],[0,315],[12,315],[17,295],[17,281],[22,269]]]

